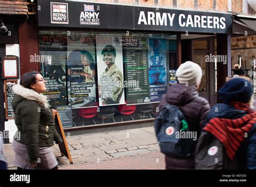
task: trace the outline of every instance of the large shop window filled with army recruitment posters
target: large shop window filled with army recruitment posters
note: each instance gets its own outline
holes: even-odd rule
[[[176,35],[41,30],[44,94],[54,109],[71,106],[73,127],[154,119],[176,44]]]

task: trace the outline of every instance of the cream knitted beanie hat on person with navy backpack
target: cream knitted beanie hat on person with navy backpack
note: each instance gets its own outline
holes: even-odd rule
[[[179,83],[187,83],[188,85],[199,86],[202,78],[201,67],[194,62],[186,61],[181,64],[176,71]]]

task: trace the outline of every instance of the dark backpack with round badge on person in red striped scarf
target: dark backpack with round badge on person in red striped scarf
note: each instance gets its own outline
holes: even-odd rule
[[[241,157],[245,155],[241,154],[238,150],[234,160],[230,160],[223,143],[211,133],[201,131],[195,152],[195,169],[243,169]]]

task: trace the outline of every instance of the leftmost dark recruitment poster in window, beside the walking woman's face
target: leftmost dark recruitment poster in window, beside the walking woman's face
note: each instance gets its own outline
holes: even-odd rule
[[[31,55],[30,62],[41,62],[41,70],[46,81],[46,91],[43,93],[49,99],[50,105],[56,109],[66,105],[66,36],[63,34],[40,34],[40,55]]]

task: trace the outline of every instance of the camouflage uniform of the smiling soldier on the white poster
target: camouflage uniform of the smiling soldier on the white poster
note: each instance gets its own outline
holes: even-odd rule
[[[120,99],[122,97],[124,87],[123,87],[123,74],[120,71],[120,69],[113,64],[110,69],[105,69],[102,75],[100,77],[112,77],[111,84],[118,85],[118,86],[112,86],[111,85],[103,85],[101,81],[99,81],[100,89],[103,87],[111,87],[111,92],[113,93],[112,97],[102,97],[102,103],[103,104],[116,104],[120,102]],[[102,94],[102,91],[100,91]]]

